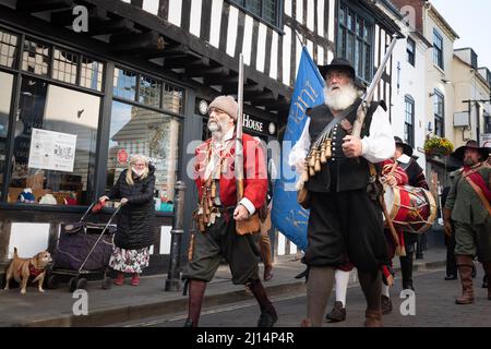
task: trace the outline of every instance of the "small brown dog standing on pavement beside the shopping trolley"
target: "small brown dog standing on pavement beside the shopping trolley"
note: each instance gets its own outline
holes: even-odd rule
[[[43,251],[32,258],[20,258],[17,248],[14,248],[14,256],[7,269],[5,290],[9,289],[9,282],[12,278],[21,285],[21,293],[25,294],[25,288],[31,276],[35,277],[33,282],[38,281],[39,292],[44,292],[43,282],[46,275],[46,266],[51,262],[51,255],[48,251]]]

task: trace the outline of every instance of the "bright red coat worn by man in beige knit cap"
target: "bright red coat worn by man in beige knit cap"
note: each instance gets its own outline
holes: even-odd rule
[[[205,184],[205,170],[209,160],[209,147],[212,140],[201,144],[196,148],[195,163],[194,163],[194,180],[197,186],[199,200],[201,202],[203,188]],[[233,176],[233,155],[235,155],[235,139],[233,146],[229,154],[225,155],[225,161],[227,164],[228,173],[230,176],[220,176],[219,180],[219,195],[223,206],[236,206],[237,205],[237,191],[236,191],[236,178]],[[267,193],[267,171],[264,154],[259,146],[259,142],[249,134],[243,134],[243,197],[247,197],[255,207],[260,209],[266,200]]]

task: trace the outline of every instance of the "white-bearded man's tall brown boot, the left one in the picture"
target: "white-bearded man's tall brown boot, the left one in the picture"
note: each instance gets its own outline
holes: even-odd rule
[[[334,284],[334,267],[310,267],[307,279],[307,318],[301,326],[321,327]]]

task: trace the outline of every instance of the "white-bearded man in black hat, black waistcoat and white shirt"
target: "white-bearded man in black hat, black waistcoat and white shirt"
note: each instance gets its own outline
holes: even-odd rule
[[[303,326],[321,326],[337,266],[348,260],[358,269],[367,299],[366,326],[381,326],[381,273],[387,264],[382,210],[367,188],[373,178],[370,163],[394,155],[394,135],[385,105],[372,103],[360,137],[351,135],[361,103],[355,86],[355,69],[345,59],[319,67],[326,81],[324,104],[310,109],[306,127],[289,156],[290,166],[302,172],[313,143],[336,117],[330,137],[332,157],[321,172],[304,184],[311,205],[308,248],[307,318]],[[382,108],[379,108],[382,106]]]

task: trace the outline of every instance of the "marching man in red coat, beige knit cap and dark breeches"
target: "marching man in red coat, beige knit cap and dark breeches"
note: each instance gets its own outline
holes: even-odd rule
[[[243,145],[243,197],[237,203],[235,145],[238,105],[230,96],[215,98],[208,108],[212,137],[196,148],[196,217],[200,229],[190,244],[189,264],[182,278],[189,282],[189,313],[184,326],[197,326],[206,284],[225,258],[235,285],[247,285],[261,308],[260,327],[272,327],[276,311],[259,277],[259,233],[239,234],[236,221],[244,221],[265,202],[267,172],[259,142],[248,134]]]

